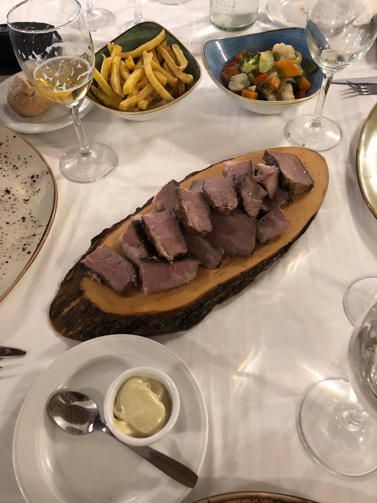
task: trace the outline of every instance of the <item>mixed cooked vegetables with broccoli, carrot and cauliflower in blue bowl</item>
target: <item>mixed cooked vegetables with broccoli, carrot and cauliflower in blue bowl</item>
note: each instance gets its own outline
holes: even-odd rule
[[[250,100],[287,101],[305,98],[314,61],[301,66],[302,55],[292,45],[275,44],[271,51],[243,51],[226,64],[220,76],[228,89]]]

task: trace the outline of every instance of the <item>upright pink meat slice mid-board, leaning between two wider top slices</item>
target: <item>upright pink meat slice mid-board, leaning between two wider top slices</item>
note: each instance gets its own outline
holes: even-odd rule
[[[188,232],[204,236],[211,232],[210,205],[203,194],[195,190],[176,187],[177,216]]]

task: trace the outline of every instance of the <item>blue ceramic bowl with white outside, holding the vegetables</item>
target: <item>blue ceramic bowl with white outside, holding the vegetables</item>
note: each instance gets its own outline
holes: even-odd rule
[[[229,98],[238,102],[238,105],[258,114],[280,114],[318,95],[323,78],[320,69],[309,77],[312,87],[305,98],[290,101],[258,101],[243,98],[229,91],[220,77],[220,72],[223,70],[224,65],[232,61],[235,54],[245,49],[248,51],[267,51],[272,49],[274,44],[279,42],[292,45],[296,51],[301,52],[303,56],[303,66],[313,59],[306,42],[305,29],[283,28],[263,33],[252,33],[251,35],[208,40],[202,46],[202,60],[208,74],[215,84],[229,96]]]

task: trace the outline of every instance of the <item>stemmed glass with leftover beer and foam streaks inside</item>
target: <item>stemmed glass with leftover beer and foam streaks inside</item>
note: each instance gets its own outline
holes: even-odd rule
[[[60,161],[74,182],[94,182],[117,165],[114,150],[87,143],[78,111],[93,78],[93,42],[76,0],[26,0],[7,16],[13,49],[26,77],[47,98],[67,106],[79,145]]]

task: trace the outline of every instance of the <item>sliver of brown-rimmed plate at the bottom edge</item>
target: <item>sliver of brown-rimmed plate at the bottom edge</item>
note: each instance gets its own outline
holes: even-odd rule
[[[196,503],[315,503],[315,501],[275,492],[243,491],[217,494]]]

